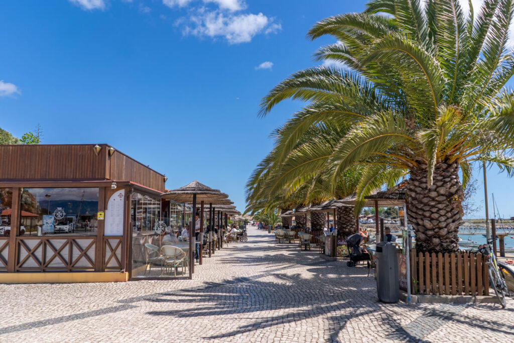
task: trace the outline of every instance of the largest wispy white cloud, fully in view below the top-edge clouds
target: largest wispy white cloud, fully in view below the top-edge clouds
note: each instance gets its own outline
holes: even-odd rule
[[[208,11],[200,9],[189,17],[189,24],[179,20],[176,25],[186,26],[182,33],[198,37],[224,37],[229,44],[247,43],[259,33],[273,33],[281,29],[274,19],[259,14],[230,14],[221,10]]]

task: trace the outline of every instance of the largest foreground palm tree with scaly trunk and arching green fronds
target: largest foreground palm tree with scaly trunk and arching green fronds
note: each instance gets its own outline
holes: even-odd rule
[[[514,73],[513,10],[513,0],[486,0],[476,16],[458,0],[373,0],[363,13],[329,17],[308,37],[335,37],[316,56],[345,68],[293,74],[263,99],[261,114],[284,99],[310,102],[290,145],[311,125],[344,125],[324,167],[332,189],[356,165],[360,197],[383,184],[384,172],[407,172],[417,249],[456,251],[459,172],[465,185],[476,161],[514,171],[514,93],[505,89]]]

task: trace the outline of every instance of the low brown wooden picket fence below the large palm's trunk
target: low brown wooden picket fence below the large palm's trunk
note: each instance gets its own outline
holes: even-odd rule
[[[413,294],[489,295],[487,257],[470,252],[442,254],[411,250]]]

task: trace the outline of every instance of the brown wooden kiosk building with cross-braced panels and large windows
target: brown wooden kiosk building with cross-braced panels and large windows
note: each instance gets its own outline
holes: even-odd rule
[[[0,146],[0,282],[130,279],[165,182],[107,144]]]

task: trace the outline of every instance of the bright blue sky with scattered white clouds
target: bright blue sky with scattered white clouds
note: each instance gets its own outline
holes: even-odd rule
[[[311,25],[364,4],[3,1],[0,127],[20,137],[39,122],[44,143],[109,143],[166,173],[170,189],[198,179],[244,210],[269,133],[301,106],[284,102],[260,119],[261,98],[319,64],[313,52],[333,40],[306,40]],[[493,168],[488,181],[502,215],[514,215],[514,180]]]

